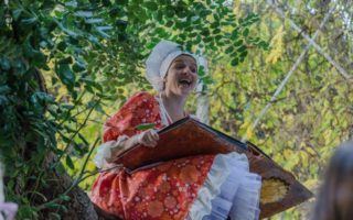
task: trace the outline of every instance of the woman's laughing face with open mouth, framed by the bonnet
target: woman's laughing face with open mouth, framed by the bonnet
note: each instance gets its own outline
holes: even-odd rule
[[[192,56],[180,55],[170,65],[165,76],[165,94],[188,96],[197,82],[197,65]]]

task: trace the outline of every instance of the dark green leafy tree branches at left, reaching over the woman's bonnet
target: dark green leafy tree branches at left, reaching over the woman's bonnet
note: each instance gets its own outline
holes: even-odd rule
[[[60,219],[67,212],[67,194],[92,176],[86,169],[94,169],[89,156],[104,118],[133,90],[126,86],[150,88],[141,69],[161,38],[213,61],[231,57],[232,65],[245,61],[248,47],[268,48],[249,34],[259,18],[238,20],[224,1],[6,2],[0,3],[0,148],[7,199],[20,205],[19,219]],[[53,178],[66,172],[73,185],[51,194]]]

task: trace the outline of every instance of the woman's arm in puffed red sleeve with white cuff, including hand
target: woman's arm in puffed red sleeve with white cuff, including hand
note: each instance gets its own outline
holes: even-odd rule
[[[103,141],[96,154],[97,167],[106,163],[114,163],[118,155],[131,148],[136,144],[153,147],[159,139],[153,130],[140,132],[137,125],[146,122],[154,122],[158,119],[156,99],[147,92],[133,95],[121,108],[104,124]],[[147,111],[149,110],[149,111]],[[147,114],[149,112],[149,114]]]

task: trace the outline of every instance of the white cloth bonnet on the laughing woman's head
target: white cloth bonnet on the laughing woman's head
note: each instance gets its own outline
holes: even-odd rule
[[[194,57],[197,63],[197,57],[194,54],[182,51],[181,46],[174,42],[162,40],[153,47],[146,61],[146,78],[156,90],[163,90],[163,79],[169,66],[174,58],[182,54]]]

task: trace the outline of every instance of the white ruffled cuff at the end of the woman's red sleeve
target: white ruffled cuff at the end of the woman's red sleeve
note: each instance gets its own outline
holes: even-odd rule
[[[106,160],[111,157],[111,148],[119,147],[121,142],[128,139],[127,135],[120,135],[116,141],[108,141],[98,146],[94,163],[98,168],[101,168],[107,162]]]

